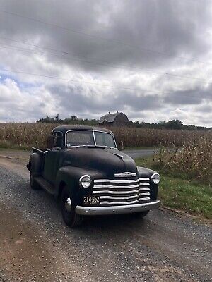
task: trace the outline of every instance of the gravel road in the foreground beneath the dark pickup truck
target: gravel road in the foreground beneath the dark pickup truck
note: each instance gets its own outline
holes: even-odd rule
[[[159,209],[70,229],[52,196],[30,190],[27,157],[0,157],[0,281],[212,280],[211,227]]]

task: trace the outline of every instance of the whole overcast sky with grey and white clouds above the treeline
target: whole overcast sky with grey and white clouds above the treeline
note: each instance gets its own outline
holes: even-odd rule
[[[212,126],[211,13],[211,0],[0,0],[0,122],[119,110]]]

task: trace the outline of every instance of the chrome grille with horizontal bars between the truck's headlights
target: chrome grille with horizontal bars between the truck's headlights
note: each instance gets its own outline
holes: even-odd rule
[[[150,179],[95,179],[93,195],[100,196],[101,205],[138,204],[150,200]]]

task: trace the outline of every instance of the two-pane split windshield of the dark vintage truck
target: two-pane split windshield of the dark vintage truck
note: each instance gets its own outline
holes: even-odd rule
[[[66,147],[112,147],[116,148],[114,137],[110,133],[92,130],[71,130],[66,133]]]

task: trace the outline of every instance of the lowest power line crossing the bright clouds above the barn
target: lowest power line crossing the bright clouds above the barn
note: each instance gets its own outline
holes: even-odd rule
[[[1,68],[0,71],[8,71],[8,72],[11,72],[11,73],[20,73],[20,74],[25,74],[25,75],[33,75],[33,76],[42,77],[42,78],[52,78],[52,79],[57,79],[57,80],[69,81],[69,82],[78,82],[78,83],[85,83],[85,84],[91,84],[91,85],[98,85],[98,86],[102,86],[102,87],[111,87],[111,88],[122,89],[122,90],[133,90],[133,91],[139,91],[139,92],[142,91],[141,89],[138,89],[138,88],[122,87],[122,86],[116,86],[116,85],[104,85],[104,84],[100,84],[100,83],[97,83],[97,82],[89,82],[89,81],[83,81],[83,80],[71,80],[71,79],[68,79],[68,78],[59,78],[57,76],[52,76],[52,75],[41,75],[41,74],[38,74],[38,73],[28,73],[28,72],[24,72],[24,71],[8,70],[6,68]],[[157,94],[169,95],[171,93],[157,92]],[[181,94],[181,96],[187,97],[187,95],[184,95],[184,94]],[[201,99],[208,99],[208,97],[206,98],[206,97],[202,97],[202,96],[199,96],[199,95],[196,95],[195,97],[199,97]]]

